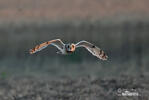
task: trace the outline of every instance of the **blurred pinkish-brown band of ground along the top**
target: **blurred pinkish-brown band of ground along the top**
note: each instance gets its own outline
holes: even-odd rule
[[[148,4],[148,0],[0,0],[0,19],[146,16]]]

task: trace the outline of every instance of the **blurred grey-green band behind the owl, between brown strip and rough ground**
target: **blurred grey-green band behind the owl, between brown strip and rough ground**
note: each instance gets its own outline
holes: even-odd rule
[[[1,71],[73,76],[144,74],[148,71],[147,20],[22,21],[2,22],[0,26]],[[83,48],[71,55],[57,55],[53,46],[29,55],[30,48],[55,38],[61,38],[65,43],[90,41],[102,48],[109,60],[98,60]]]

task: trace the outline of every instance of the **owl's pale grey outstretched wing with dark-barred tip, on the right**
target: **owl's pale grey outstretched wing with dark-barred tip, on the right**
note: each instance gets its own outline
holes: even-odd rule
[[[98,48],[97,46],[87,42],[87,41],[80,41],[76,44],[77,47],[85,47],[90,53],[92,53],[94,56],[102,59],[107,60],[108,56],[104,53],[103,50]]]

